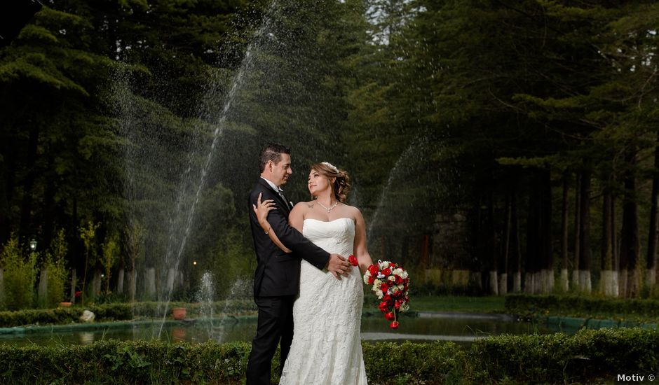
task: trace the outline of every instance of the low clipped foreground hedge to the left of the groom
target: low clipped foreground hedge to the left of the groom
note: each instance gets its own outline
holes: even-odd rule
[[[1,345],[2,383],[240,384],[250,345],[100,341],[89,346]],[[39,370],[35,370],[39,367]]]

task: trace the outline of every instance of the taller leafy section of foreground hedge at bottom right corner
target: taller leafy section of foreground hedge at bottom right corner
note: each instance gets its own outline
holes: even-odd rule
[[[474,342],[467,374],[477,382],[590,383],[617,374],[651,374],[659,332],[641,328],[580,330],[570,336],[503,335]],[[646,356],[645,356],[646,355]]]

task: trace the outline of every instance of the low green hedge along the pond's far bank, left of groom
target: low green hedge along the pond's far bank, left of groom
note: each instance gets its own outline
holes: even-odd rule
[[[205,314],[204,304],[170,302],[168,315],[173,307],[185,307],[188,317]],[[252,300],[231,300],[213,302],[213,314],[245,314],[256,311]],[[95,321],[127,321],[135,318],[161,318],[163,304],[161,302],[111,303],[90,305],[85,307],[62,307],[57,309],[28,309],[19,311],[0,311],[0,328],[11,328],[24,325],[63,325],[78,323],[84,310],[93,311]]]

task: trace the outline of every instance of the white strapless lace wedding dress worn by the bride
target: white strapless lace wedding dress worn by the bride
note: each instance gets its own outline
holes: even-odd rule
[[[355,223],[305,219],[302,234],[330,253],[353,253]],[[280,384],[366,384],[360,341],[363,281],[359,268],[338,280],[302,260],[294,332]]]

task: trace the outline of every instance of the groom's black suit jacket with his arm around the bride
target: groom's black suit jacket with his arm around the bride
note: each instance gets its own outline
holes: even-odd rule
[[[293,253],[285,253],[264,234],[252,209],[252,204],[257,204],[259,193],[262,194],[261,202],[275,201],[276,209],[268,214],[268,222],[280,241]],[[250,193],[247,209],[250,212],[252,239],[258,262],[254,272],[254,297],[296,295],[299,291],[301,258],[323,269],[330,259],[330,253],[315,246],[288,224],[288,214],[292,209],[290,203],[284,202],[264,179],[259,178],[259,183]]]

